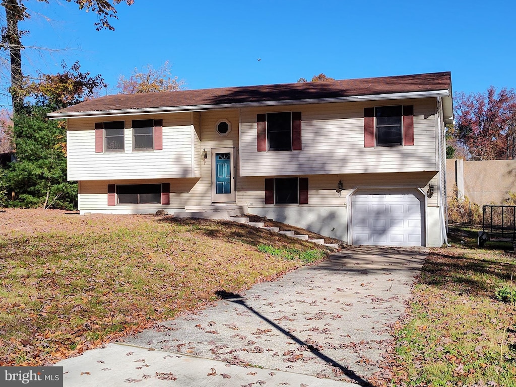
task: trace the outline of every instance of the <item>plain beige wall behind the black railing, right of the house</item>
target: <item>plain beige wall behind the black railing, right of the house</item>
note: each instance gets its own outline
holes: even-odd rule
[[[448,197],[453,195],[457,183],[456,160],[446,160]],[[463,171],[463,195],[472,203],[500,205],[509,197],[509,192],[516,193],[516,160],[464,161]]]

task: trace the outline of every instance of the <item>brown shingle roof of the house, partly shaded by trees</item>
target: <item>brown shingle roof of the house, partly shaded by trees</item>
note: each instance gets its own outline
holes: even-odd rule
[[[61,109],[51,113],[51,115],[126,109],[297,101],[437,90],[449,90],[451,92],[451,75],[449,72],[160,93],[116,94],[91,99]]]

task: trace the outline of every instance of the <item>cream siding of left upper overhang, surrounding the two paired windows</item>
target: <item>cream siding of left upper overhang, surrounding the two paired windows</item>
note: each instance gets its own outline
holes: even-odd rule
[[[133,151],[132,120],[163,119],[163,150]],[[95,122],[125,121],[124,152],[95,153]],[[68,179],[107,180],[191,177],[191,114],[156,114],[69,120]]]

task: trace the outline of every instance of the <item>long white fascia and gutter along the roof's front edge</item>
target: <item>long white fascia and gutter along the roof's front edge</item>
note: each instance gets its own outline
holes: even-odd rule
[[[155,113],[178,113],[185,111],[206,111],[214,109],[237,109],[244,107],[256,106],[282,106],[282,105],[307,105],[307,104],[328,104],[332,102],[361,102],[385,99],[408,99],[408,98],[428,98],[428,97],[446,97],[450,96],[449,90],[435,90],[410,93],[393,93],[393,94],[371,94],[356,95],[350,97],[335,98],[310,98],[310,99],[292,99],[284,101],[262,101],[262,102],[243,102],[238,104],[214,104],[214,105],[191,105],[191,106],[171,106],[160,108],[140,108],[140,109],[118,109],[118,110],[97,110],[97,111],[79,111],[65,113],[48,113],[50,119],[59,120],[66,118],[78,117],[107,117],[127,114],[155,114]]]

